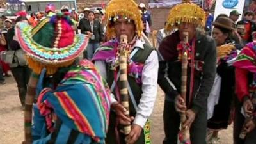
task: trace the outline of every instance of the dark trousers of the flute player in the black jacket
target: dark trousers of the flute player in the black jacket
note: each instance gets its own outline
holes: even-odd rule
[[[163,144],[177,144],[180,127],[180,114],[174,102],[164,101],[164,133]],[[190,127],[191,144],[206,144],[207,108],[200,109]]]

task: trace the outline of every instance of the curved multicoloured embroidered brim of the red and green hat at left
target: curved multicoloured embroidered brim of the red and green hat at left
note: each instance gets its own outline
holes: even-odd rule
[[[45,65],[58,65],[74,60],[81,54],[88,44],[88,37],[76,35],[74,43],[67,47],[45,47],[33,40],[32,27],[26,22],[19,22],[15,26],[15,35],[26,54],[33,60]]]

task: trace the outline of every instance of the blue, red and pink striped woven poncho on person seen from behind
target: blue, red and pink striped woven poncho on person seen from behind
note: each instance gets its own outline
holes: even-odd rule
[[[83,60],[67,72],[56,90],[42,90],[37,104],[49,132],[54,131],[54,114],[70,129],[99,143],[108,131],[109,95],[108,84],[94,65]]]

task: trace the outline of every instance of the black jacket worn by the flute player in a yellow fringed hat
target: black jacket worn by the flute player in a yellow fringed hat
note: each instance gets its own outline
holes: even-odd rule
[[[180,93],[181,62],[178,60],[177,44],[179,31],[166,36],[159,46],[158,84],[166,94],[166,100],[173,101]],[[202,68],[197,67],[202,65]],[[207,97],[211,91],[216,74],[216,44],[210,36],[196,33],[195,70],[193,85],[193,100],[190,108],[197,113],[207,108]],[[190,66],[188,66],[187,102],[189,100]],[[189,109],[190,109],[189,108]]]

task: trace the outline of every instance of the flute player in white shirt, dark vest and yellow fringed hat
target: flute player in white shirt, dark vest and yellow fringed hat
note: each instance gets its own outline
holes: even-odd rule
[[[106,143],[148,143],[148,116],[152,113],[157,94],[157,52],[141,40],[143,23],[138,5],[132,0],[112,0],[106,8],[108,42],[103,44],[93,56],[96,67],[108,81],[113,92],[111,118]],[[129,47],[127,75],[129,82],[129,112],[125,116],[120,104],[120,35],[127,35]],[[115,95],[115,96],[114,96]],[[120,132],[121,125],[131,123],[131,132],[125,136]]]

